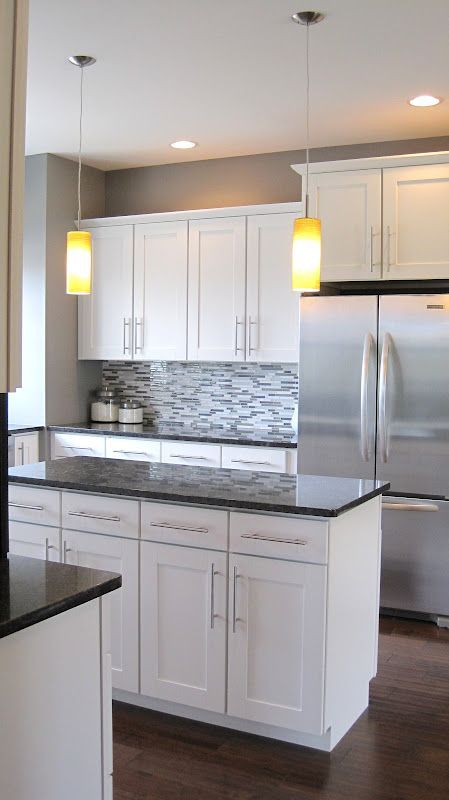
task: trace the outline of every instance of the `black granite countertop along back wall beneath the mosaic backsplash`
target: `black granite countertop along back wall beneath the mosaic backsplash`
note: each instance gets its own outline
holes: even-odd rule
[[[64,433],[95,433],[103,436],[130,436],[146,439],[167,439],[177,442],[206,442],[236,444],[249,447],[296,448],[297,437],[273,431],[243,431],[230,428],[193,428],[185,425],[123,425],[118,422],[78,422],[72,425],[49,425],[49,431]]]

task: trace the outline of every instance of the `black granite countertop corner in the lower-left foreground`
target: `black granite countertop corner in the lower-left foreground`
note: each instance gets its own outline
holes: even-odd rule
[[[121,585],[114,572],[24,556],[0,559],[0,639]]]

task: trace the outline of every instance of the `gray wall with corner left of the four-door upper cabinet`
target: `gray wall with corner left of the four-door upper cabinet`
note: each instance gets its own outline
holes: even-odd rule
[[[76,215],[77,166],[53,155],[25,160],[23,374],[9,396],[10,422],[86,419],[100,362],[77,357],[77,303],[65,293],[66,233]],[[83,168],[83,216],[103,216],[104,173]]]

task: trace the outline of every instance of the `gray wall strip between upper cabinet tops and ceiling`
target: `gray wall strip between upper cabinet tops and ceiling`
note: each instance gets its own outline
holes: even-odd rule
[[[311,151],[311,160],[436,150],[449,150],[449,136],[320,148]],[[290,164],[304,160],[304,150],[293,150],[112,170],[106,173],[106,216],[295,201],[301,181]]]

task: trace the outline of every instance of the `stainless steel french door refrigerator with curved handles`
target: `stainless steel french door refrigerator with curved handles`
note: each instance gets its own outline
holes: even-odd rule
[[[449,294],[301,299],[298,471],[390,481],[381,606],[449,615]]]

